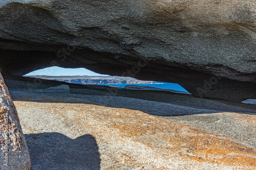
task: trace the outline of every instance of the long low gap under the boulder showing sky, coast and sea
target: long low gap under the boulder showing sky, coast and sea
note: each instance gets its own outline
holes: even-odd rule
[[[162,90],[190,94],[176,83],[142,81],[132,77],[101,75],[85,68],[62,68],[54,66],[32,71],[24,76],[72,84],[106,85],[130,90]]]

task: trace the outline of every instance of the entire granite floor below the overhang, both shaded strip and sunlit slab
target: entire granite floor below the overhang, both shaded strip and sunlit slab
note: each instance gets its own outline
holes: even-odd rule
[[[38,92],[49,81],[7,82],[32,169],[256,168],[256,105],[105,86],[115,92]]]

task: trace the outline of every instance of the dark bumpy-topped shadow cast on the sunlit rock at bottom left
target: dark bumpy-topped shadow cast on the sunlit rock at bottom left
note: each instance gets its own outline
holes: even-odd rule
[[[71,139],[60,133],[25,135],[32,170],[100,169],[98,145],[92,135]]]

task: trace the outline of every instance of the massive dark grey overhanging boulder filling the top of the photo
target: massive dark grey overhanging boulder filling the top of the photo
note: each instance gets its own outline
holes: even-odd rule
[[[255,99],[255,11],[253,0],[2,1],[0,67],[85,67],[201,98]]]

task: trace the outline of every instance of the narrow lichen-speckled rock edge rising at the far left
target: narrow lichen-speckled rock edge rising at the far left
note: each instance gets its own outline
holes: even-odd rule
[[[30,157],[16,108],[0,73],[0,169],[30,169]]]

